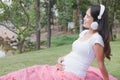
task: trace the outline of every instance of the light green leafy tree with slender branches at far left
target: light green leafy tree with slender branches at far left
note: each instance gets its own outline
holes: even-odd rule
[[[3,18],[1,19],[1,23],[3,25],[6,25],[4,23],[10,22],[15,28],[16,31],[13,31],[18,35],[18,48],[20,53],[23,52],[23,45],[26,41],[26,37],[28,37],[33,31],[33,26],[30,23],[30,15],[28,13],[29,11],[29,5],[31,4],[31,0],[17,0],[13,1],[11,5],[4,4],[1,0],[1,7],[3,8],[4,12],[3,14],[0,14]],[[3,23],[4,22],[4,23]],[[8,29],[9,25],[6,25]]]

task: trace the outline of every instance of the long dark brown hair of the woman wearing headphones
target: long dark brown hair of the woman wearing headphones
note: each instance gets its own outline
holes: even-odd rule
[[[92,5],[90,7],[90,13],[94,21],[97,21],[99,24],[98,33],[102,36],[104,41],[104,54],[105,57],[110,60],[111,48],[110,48],[110,29],[108,25],[108,9],[105,8],[101,19],[98,20],[98,15],[100,13],[100,5]]]

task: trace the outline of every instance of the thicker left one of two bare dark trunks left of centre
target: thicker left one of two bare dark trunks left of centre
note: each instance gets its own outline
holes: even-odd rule
[[[36,13],[36,50],[40,49],[40,0],[35,0]]]

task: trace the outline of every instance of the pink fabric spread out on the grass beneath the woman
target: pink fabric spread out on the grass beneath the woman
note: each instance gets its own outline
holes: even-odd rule
[[[83,80],[73,73],[59,71],[55,66],[35,65],[1,76],[0,80]],[[97,68],[90,67],[85,80],[103,80]],[[117,80],[110,75],[110,80]]]

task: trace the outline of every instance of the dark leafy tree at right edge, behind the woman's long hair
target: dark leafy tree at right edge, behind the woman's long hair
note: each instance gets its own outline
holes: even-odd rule
[[[101,2],[102,4],[104,4],[108,9],[109,9],[109,23],[110,23],[110,36],[111,36],[111,40],[114,40],[114,34],[113,34],[113,28],[115,26],[114,21],[116,19],[119,20],[118,16],[119,14],[118,11],[120,10],[119,7],[119,0],[102,0]]]

